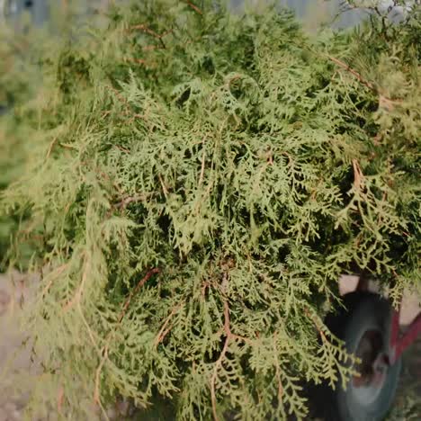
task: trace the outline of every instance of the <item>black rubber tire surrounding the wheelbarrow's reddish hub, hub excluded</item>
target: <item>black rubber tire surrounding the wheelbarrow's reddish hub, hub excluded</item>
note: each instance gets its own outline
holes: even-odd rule
[[[392,308],[389,300],[371,292],[353,292],[344,297],[345,309],[327,317],[327,327],[345,341],[347,351],[354,354],[363,335],[376,331],[381,335],[381,352],[389,354]],[[398,389],[401,360],[386,369],[385,380],[375,393],[372,389],[363,391],[354,388],[350,381],[344,390],[339,384],[336,389],[324,386],[318,393],[318,407],[323,405],[326,421],[380,421],[390,411]],[[367,391],[368,390],[368,391]],[[368,397],[368,398],[367,398]],[[368,401],[367,401],[368,400]]]

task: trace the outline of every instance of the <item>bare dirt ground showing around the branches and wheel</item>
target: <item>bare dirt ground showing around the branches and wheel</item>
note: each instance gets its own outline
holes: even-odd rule
[[[349,279],[346,288],[352,288],[353,280]],[[22,344],[22,334],[19,333],[17,316],[21,311],[22,303],[31,301],[31,288],[36,286],[36,279],[24,279],[22,275],[0,275],[0,421],[21,421],[22,412],[28,395],[22,392],[13,394],[13,383],[10,372],[6,368],[36,371],[30,363],[30,352],[24,350],[16,356],[16,351]],[[346,289],[345,288],[345,289]],[[401,322],[407,325],[419,311],[418,300],[407,297],[403,306]],[[31,382],[27,383],[28,391]],[[404,367],[401,376],[401,385],[395,406],[388,421],[407,421],[421,419],[421,338],[404,356]],[[122,419],[118,411],[112,409],[113,419]],[[35,420],[34,420],[35,421]]]

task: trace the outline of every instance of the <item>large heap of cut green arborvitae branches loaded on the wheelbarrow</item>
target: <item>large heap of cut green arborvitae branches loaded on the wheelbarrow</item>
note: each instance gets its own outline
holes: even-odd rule
[[[116,394],[180,419],[306,417],[345,381],[341,273],[419,287],[420,20],[310,40],[286,12],[145,0],[44,59],[30,417]],[[18,258],[18,257],[16,257]]]

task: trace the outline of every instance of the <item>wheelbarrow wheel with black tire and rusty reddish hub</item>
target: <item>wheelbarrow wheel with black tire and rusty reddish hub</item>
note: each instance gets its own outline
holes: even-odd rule
[[[357,356],[358,376],[345,389],[324,388],[325,419],[328,421],[378,421],[388,414],[398,389],[401,360],[390,364],[389,300],[370,292],[353,292],[344,298],[345,309],[327,317],[327,327]]]

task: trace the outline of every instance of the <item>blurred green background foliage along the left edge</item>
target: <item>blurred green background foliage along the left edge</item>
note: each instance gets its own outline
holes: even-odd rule
[[[74,0],[59,13],[57,2],[48,3],[50,19],[42,28],[31,25],[28,13],[20,19],[0,20],[0,191],[24,173],[38,135],[42,138],[38,119],[49,89],[49,84],[41,83],[48,79],[41,71],[43,61],[51,64],[49,57],[60,49],[62,38],[75,34],[80,38],[86,19],[96,26],[101,23],[100,13],[88,13],[89,7],[98,6],[96,1],[86,7],[83,0]],[[24,269],[31,257],[33,247],[12,236],[21,218],[19,214],[0,216],[0,271],[9,263],[11,240],[21,248],[16,264]]]

